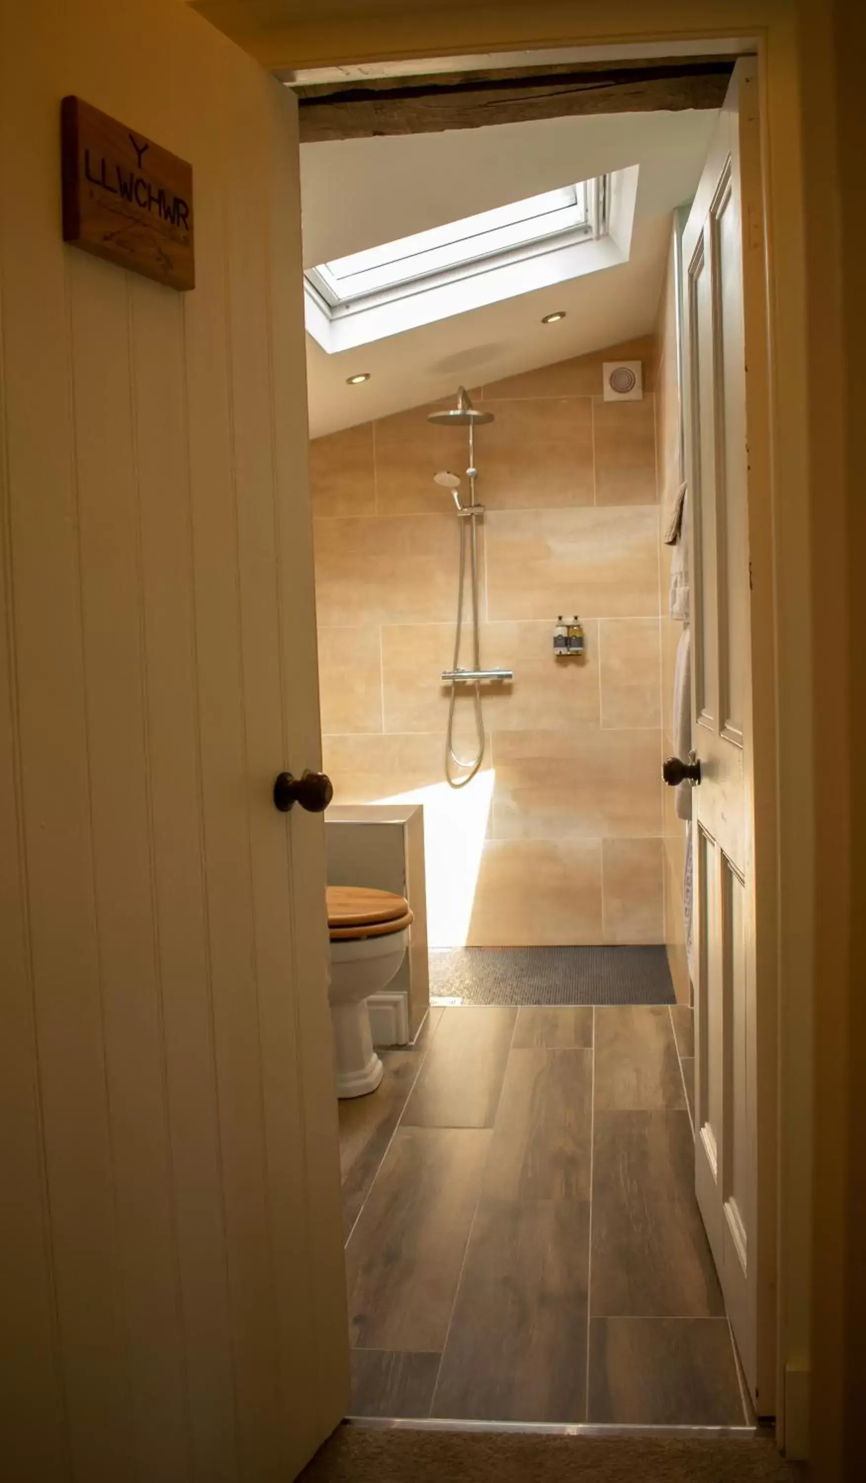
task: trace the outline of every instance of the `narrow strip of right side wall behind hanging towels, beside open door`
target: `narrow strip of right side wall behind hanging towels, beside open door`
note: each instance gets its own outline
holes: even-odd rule
[[[661,506],[661,531],[670,518],[670,509],[679,483],[679,393],[676,371],[676,300],[675,300],[673,237],[667,254],[667,274],[658,310],[658,368],[655,372],[655,446],[658,452],[658,498]],[[673,667],[676,647],[682,635],[682,623],[667,615],[667,589],[670,583],[669,546],[661,544],[661,728],[664,755],[673,756]],[[681,1004],[691,1001],[688,965],[685,961],[685,927],[682,914],[682,868],[685,860],[685,823],[673,811],[673,789],[663,789],[664,805],[664,942],[676,998]]]

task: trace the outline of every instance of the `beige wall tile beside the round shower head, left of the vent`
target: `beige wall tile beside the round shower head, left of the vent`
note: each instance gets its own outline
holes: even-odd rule
[[[491,510],[595,504],[589,396],[503,403],[475,448],[477,497]]]

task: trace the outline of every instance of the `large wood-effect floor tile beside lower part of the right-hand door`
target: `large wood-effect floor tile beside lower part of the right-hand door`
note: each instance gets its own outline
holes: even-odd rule
[[[601,1317],[724,1314],[687,1112],[596,1111],[590,1302]]]

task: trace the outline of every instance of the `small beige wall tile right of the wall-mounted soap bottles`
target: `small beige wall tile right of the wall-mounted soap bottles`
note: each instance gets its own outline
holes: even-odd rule
[[[661,725],[658,618],[599,623],[602,727]]]

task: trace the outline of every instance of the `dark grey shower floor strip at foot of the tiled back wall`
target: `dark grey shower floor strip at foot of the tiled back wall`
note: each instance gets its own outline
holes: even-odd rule
[[[673,1004],[664,948],[432,948],[430,1000]]]

